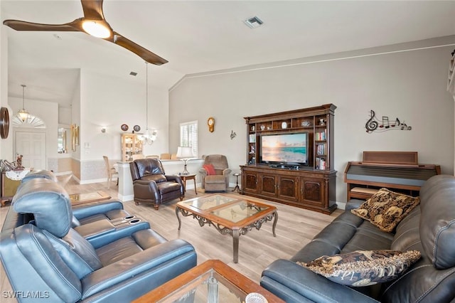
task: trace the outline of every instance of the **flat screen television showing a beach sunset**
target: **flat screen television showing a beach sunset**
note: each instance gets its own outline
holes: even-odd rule
[[[260,161],[266,164],[308,165],[308,132],[263,134]]]

